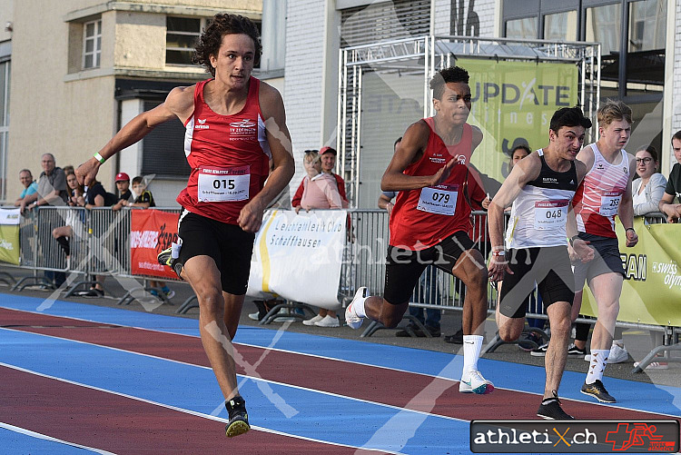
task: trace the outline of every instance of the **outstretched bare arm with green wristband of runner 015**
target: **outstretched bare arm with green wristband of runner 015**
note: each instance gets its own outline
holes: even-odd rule
[[[153,109],[137,115],[130,122],[125,124],[114,137],[104,145],[99,154],[104,159],[111,158],[125,147],[140,141],[145,135],[149,134],[156,125],[163,124],[175,117],[183,123],[192,115],[193,94],[195,85],[189,87],[175,87],[165,98],[162,104]],[[89,185],[94,181],[94,177],[99,171],[101,164],[95,158],[90,158],[85,163],[78,166],[75,176],[78,183]]]

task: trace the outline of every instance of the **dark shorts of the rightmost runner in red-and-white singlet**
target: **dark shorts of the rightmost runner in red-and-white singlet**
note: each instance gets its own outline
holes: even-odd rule
[[[594,251],[594,259],[587,263],[575,264],[575,289],[581,291],[585,282],[604,273],[625,274],[622,259],[619,257],[619,244],[617,239],[601,237],[586,232],[579,232],[579,238],[589,242],[588,246]]]

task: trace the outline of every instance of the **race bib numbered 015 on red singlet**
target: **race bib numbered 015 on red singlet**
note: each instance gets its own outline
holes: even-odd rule
[[[199,167],[200,203],[232,203],[249,198],[251,166]]]

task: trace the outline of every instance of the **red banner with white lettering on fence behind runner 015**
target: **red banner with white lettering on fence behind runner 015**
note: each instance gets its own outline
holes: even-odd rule
[[[178,213],[133,210],[130,228],[130,262],[133,275],[177,279],[170,267],[158,263],[159,252],[177,242]]]

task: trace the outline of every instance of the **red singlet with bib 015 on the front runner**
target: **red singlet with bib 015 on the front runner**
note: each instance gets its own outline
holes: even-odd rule
[[[184,124],[184,154],[192,173],[177,202],[189,212],[237,224],[243,206],[262,190],[270,167],[260,81],[251,77],[246,104],[232,115],[216,114],[205,103],[203,87],[210,81],[196,84],[194,112]]]

